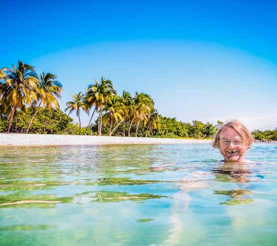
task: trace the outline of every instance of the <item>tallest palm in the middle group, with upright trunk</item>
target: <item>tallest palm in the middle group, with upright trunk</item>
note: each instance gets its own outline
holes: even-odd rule
[[[88,103],[93,102],[95,109],[97,109],[99,112],[97,129],[98,136],[101,136],[102,111],[109,98],[114,94],[116,94],[116,91],[113,89],[112,82],[103,77],[101,78],[100,83],[97,80],[94,80],[94,84],[89,85],[87,88],[87,101]]]

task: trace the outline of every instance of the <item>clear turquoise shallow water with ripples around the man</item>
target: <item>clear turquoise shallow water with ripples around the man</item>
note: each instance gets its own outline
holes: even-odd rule
[[[275,246],[277,144],[246,158],[223,164],[208,144],[0,148],[0,245]]]

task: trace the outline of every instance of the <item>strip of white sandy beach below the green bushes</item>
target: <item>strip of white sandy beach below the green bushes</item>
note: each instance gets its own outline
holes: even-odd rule
[[[120,137],[120,136],[79,136],[50,134],[5,134],[0,133],[0,146],[54,146],[54,145],[107,145],[107,144],[184,144],[210,143],[211,140]]]

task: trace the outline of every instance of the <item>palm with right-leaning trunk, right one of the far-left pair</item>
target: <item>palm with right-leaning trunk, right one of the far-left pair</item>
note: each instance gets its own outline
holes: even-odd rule
[[[44,72],[42,72],[39,77],[40,79],[37,84],[37,98],[39,100],[39,104],[27,126],[26,133],[28,133],[31,123],[33,122],[40,107],[45,107],[47,109],[59,109],[57,99],[60,98],[62,91],[61,83],[56,80],[57,77],[52,73],[47,73],[45,75]]]

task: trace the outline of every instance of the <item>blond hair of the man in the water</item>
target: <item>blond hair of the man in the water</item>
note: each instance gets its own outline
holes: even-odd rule
[[[251,144],[253,143],[253,136],[249,132],[249,130],[246,128],[246,126],[243,123],[241,123],[240,121],[237,121],[237,120],[227,121],[226,123],[223,123],[220,126],[218,132],[216,133],[216,135],[214,136],[214,139],[212,141],[212,146],[214,148],[219,148],[219,135],[220,135],[221,130],[225,126],[226,127],[231,127],[235,131],[237,131],[237,133],[241,136],[242,140],[245,142],[246,146],[248,146],[248,148],[250,148]]]

